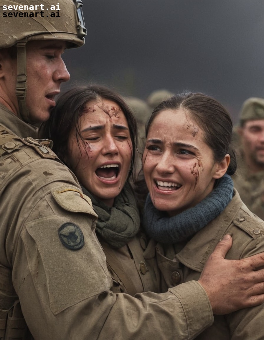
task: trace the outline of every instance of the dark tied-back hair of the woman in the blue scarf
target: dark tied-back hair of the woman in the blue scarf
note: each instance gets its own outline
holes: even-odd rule
[[[232,120],[227,110],[218,101],[202,93],[184,92],[172,96],[154,108],[146,124],[146,136],[155,117],[164,110],[184,110],[204,131],[204,138],[211,148],[215,162],[221,162],[230,155],[227,174],[233,175],[237,169],[237,158],[231,147]]]

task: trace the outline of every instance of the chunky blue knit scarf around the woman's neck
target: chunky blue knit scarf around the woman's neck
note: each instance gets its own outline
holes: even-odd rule
[[[146,233],[161,243],[188,239],[223,212],[233,197],[233,186],[231,177],[225,174],[205,199],[173,217],[157,210],[148,194],[143,219]]]

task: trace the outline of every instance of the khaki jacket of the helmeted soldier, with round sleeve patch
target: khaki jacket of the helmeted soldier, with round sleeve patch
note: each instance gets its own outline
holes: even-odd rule
[[[90,199],[28,129],[0,106],[1,336],[22,338],[18,298],[35,340],[193,339],[208,327],[211,306],[195,281],[136,297],[109,290]]]

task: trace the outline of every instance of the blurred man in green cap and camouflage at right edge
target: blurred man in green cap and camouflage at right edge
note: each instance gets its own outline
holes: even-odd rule
[[[247,207],[264,220],[264,99],[253,97],[243,103],[237,134],[234,185]]]

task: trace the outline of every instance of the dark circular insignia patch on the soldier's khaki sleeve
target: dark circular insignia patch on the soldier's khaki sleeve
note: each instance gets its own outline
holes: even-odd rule
[[[79,250],[83,247],[84,237],[77,224],[67,222],[62,224],[58,230],[61,243],[68,249]]]

